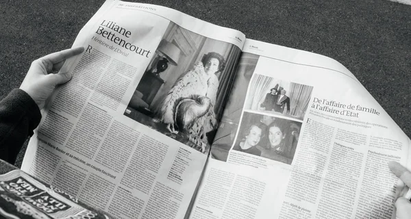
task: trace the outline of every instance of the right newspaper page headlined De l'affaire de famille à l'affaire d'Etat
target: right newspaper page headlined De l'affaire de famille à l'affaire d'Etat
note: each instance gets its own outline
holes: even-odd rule
[[[340,63],[247,39],[190,218],[391,218],[409,142]]]

